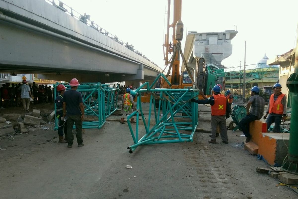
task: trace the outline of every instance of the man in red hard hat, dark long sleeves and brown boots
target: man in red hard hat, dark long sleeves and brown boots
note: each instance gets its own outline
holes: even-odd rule
[[[65,124],[65,118],[63,117],[63,94],[66,90],[66,87],[63,84],[57,86],[57,91],[59,95],[55,98],[56,105],[56,117],[58,119],[58,135],[59,143],[67,143],[67,125]],[[63,129],[64,129],[64,139],[63,139]]]

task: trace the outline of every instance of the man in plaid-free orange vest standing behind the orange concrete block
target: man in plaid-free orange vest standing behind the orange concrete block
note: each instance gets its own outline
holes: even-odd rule
[[[264,116],[264,119],[266,119],[269,114],[266,120],[268,132],[270,132],[269,128],[273,122],[275,123],[273,132],[280,132],[281,120],[283,119],[283,121],[285,121],[287,118],[287,96],[280,92],[281,88],[281,84],[274,84],[274,93],[270,96],[269,99],[267,112]]]

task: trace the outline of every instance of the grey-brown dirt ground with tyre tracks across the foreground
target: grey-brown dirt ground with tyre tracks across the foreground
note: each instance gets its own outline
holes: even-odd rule
[[[52,104],[36,108],[50,112]],[[198,128],[211,130],[209,110],[199,105]],[[228,131],[229,144],[209,144],[209,133],[196,132],[192,143],[139,146],[130,154],[126,123],[86,129],[85,146],[71,149],[58,143],[52,122],[44,126],[50,129],[30,127],[0,138],[0,198],[297,198],[292,189],[275,186],[277,179],[256,172],[268,165],[243,149],[239,130]]]

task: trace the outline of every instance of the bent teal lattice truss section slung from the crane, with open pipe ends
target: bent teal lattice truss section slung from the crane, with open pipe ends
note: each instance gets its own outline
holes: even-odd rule
[[[196,98],[199,91],[197,89],[153,89],[161,76],[171,85],[163,74],[159,74],[151,85],[145,82],[135,91],[131,91],[132,95],[138,95],[138,100],[137,110],[127,118],[134,141],[134,144],[127,148],[130,153],[139,145],[193,141],[193,134],[198,125],[198,104],[191,103],[190,98]],[[147,89],[143,89],[145,87]],[[144,92],[151,94],[148,121],[144,118],[141,104],[141,93]],[[150,121],[152,109],[154,110],[153,122]],[[129,121],[133,116],[136,116],[135,130]],[[139,129],[139,117],[142,118],[141,123],[144,125],[145,132]]]

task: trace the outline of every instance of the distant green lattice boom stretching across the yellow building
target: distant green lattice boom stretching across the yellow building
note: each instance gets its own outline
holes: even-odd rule
[[[249,69],[245,71],[246,71],[246,78],[253,78],[253,79],[275,78],[275,77],[278,77],[279,67],[255,68],[255,69]],[[243,74],[244,70],[224,71],[224,69],[218,69],[218,70],[211,70],[209,72],[218,77],[226,77],[226,80],[243,78],[244,76]]]

